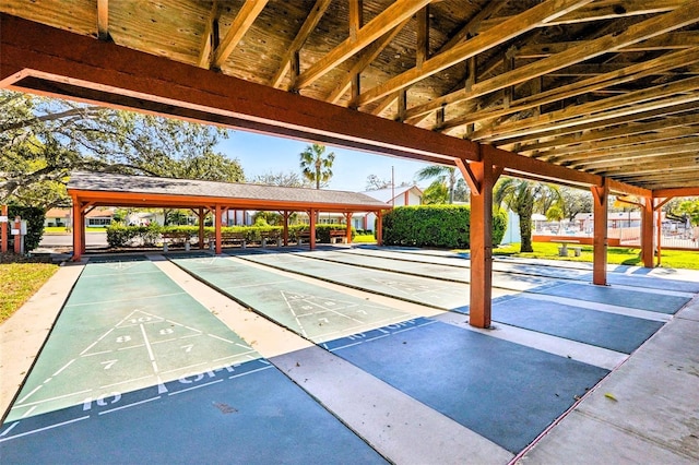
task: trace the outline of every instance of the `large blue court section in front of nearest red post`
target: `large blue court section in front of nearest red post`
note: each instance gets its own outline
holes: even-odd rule
[[[512,453],[524,449],[608,373],[427,319],[327,346]]]

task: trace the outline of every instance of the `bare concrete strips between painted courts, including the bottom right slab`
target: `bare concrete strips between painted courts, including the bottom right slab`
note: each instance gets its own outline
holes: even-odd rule
[[[250,312],[161,255],[150,259],[185,293],[194,297],[390,462],[591,464],[699,461],[697,297],[675,315],[659,314],[656,319],[667,323],[628,356],[502,323],[498,323],[495,331],[474,330],[460,313],[321,283],[293,273],[274,272],[306,282],[309,286],[321,285],[339,295],[366,300],[371,306],[392,307],[414,318],[436,319],[460,331],[484,334],[612,370],[541,438],[513,454],[417,401],[414,395],[387,383],[381,377],[350,362],[346,356],[321,348]],[[528,264],[528,270],[533,266],[536,264]],[[0,326],[2,412],[7,410],[29,370],[81,271],[81,265],[62,266],[27,305]],[[672,277],[699,283],[691,272],[678,271],[672,273]],[[439,344],[438,341],[435,344]],[[487,373],[483,375],[487,378]],[[487,382],[486,378],[484,382]],[[0,428],[0,440],[8,433],[4,427],[7,425]]]

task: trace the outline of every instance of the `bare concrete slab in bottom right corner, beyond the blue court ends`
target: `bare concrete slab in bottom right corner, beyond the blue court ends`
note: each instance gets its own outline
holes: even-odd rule
[[[699,307],[695,300],[692,308]],[[683,310],[684,312],[685,310]],[[605,379],[521,463],[697,463],[699,322],[675,318]]]

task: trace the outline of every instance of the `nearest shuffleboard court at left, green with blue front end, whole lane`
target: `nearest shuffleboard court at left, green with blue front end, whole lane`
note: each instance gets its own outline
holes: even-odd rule
[[[0,426],[0,457],[386,463],[143,258],[85,266]]]

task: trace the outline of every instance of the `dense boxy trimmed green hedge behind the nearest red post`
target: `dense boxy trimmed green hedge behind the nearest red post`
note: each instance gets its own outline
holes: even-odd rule
[[[399,206],[383,216],[383,243],[467,249],[471,207],[469,205]],[[505,236],[507,214],[493,212],[493,246]]]

